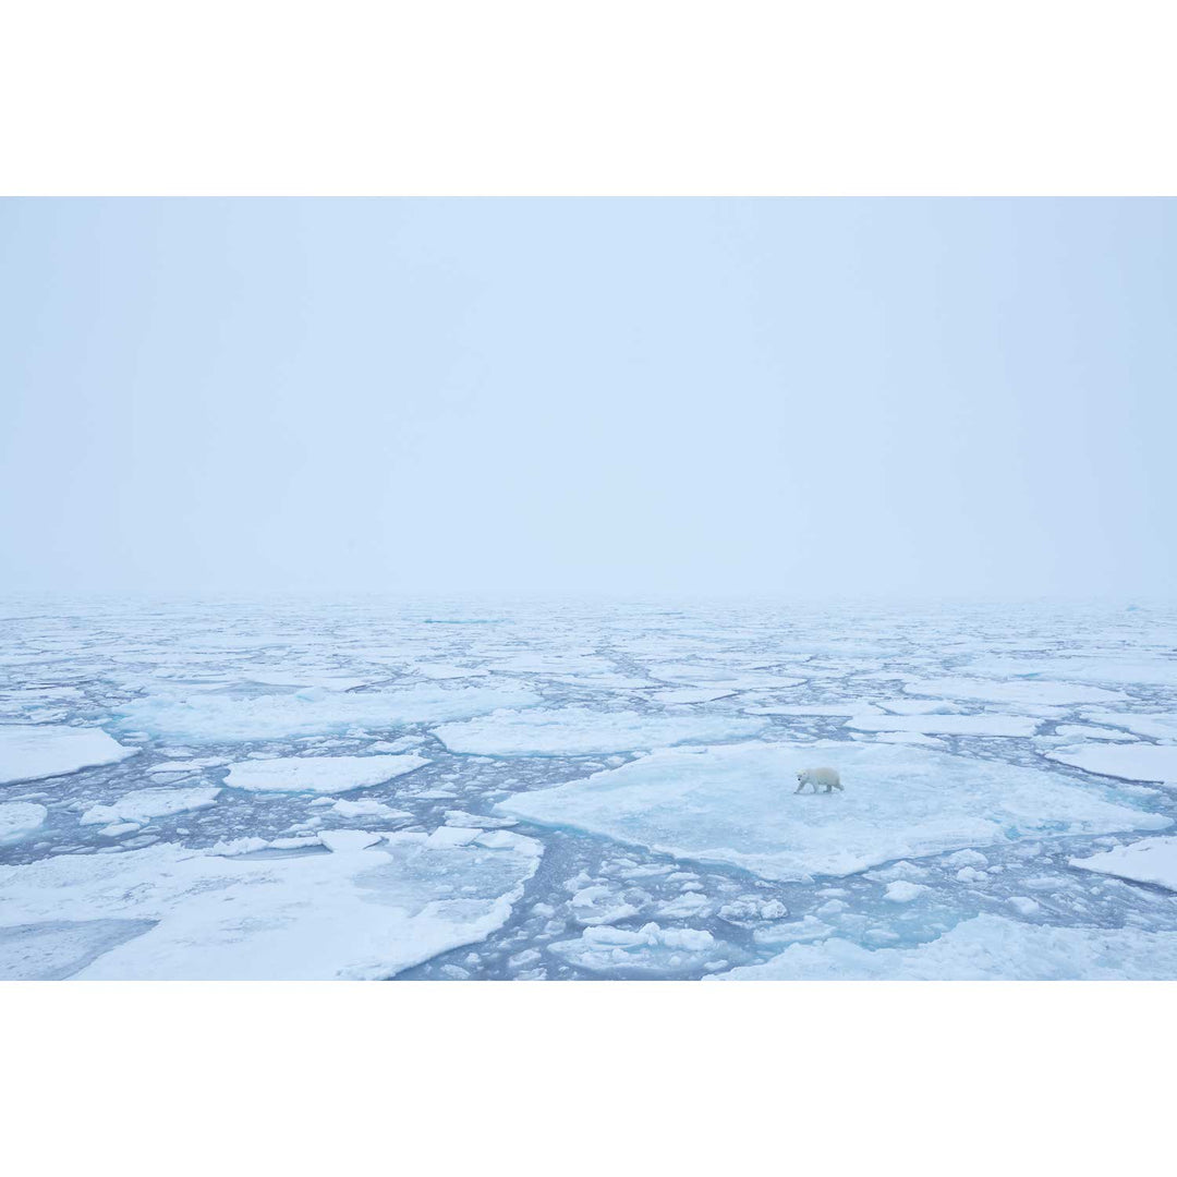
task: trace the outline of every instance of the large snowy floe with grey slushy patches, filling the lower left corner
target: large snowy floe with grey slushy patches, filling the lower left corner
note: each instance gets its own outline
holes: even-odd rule
[[[388,833],[285,858],[161,845],[0,866],[0,975],[392,977],[500,927],[534,873],[534,839],[473,833],[460,846]]]

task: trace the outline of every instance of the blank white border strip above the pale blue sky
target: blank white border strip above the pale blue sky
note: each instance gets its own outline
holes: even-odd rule
[[[1159,0],[11,0],[7,194],[1172,194]]]

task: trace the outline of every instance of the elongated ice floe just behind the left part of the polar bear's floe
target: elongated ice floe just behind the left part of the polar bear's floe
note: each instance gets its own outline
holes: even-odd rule
[[[483,756],[593,756],[671,744],[704,744],[754,736],[759,720],[729,716],[647,716],[637,711],[497,711],[485,719],[443,724],[437,736],[452,752]]]

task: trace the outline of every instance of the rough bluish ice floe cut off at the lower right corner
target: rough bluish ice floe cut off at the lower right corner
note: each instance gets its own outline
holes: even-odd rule
[[[844,939],[793,944],[720,980],[1166,980],[1177,932],[1051,927],[977,916],[915,947],[864,949]]]

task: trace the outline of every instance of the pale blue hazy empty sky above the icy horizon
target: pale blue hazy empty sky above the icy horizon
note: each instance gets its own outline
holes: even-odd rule
[[[0,202],[16,590],[1172,596],[1177,205]]]

